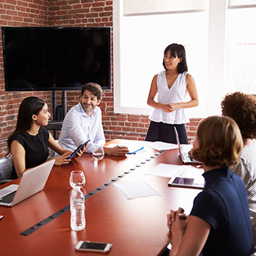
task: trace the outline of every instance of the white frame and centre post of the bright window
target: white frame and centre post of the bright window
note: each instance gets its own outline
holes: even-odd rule
[[[229,0],[208,0],[208,83],[206,85],[206,114],[220,115],[221,94],[225,83],[225,54],[226,54],[226,16]],[[232,7],[231,7],[232,8]],[[234,7],[233,7],[234,8]],[[113,91],[114,91],[114,112],[124,114],[148,115],[152,108],[137,108],[122,106],[121,102],[121,76],[122,67],[122,17],[123,0],[113,0]],[[152,74],[152,78],[153,78]],[[150,87],[150,85],[149,85]],[[147,93],[149,92],[149,88]],[[200,99],[199,99],[200,102]],[[136,103],[136,102],[134,102]]]

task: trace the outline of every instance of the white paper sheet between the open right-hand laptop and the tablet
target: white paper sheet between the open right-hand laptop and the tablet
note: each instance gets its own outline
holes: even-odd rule
[[[161,176],[161,177],[175,177],[178,176],[186,168],[185,165],[176,164],[157,164],[153,169],[147,172],[147,175]]]

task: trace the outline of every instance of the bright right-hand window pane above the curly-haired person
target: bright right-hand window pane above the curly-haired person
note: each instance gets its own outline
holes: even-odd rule
[[[227,12],[227,83],[224,91],[256,94],[256,8]]]

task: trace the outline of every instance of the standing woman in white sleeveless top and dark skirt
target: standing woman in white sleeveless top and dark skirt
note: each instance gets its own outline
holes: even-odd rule
[[[178,43],[166,47],[163,65],[165,71],[154,76],[147,98],[147,104],[154,110],[149,116],[151,122],[145,140],[176,144],[176,127],[181,144],[188,144],[185,123],[189,123],[189,117],[185,109],[198,106],[199,99],[195,81],[187,74],[185,48]],[[185,102],[187,92],[191,98],[189,102]]]

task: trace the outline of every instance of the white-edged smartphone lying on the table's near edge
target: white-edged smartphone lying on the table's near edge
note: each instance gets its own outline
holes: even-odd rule
[[[92,251],[92,252],[102,252],[106,254],[110,251],[112,244],[91,242],[91,241],[79,241],[75,246],[77,251]]]

